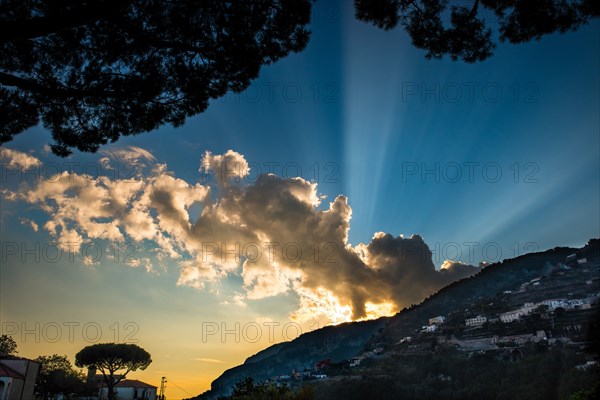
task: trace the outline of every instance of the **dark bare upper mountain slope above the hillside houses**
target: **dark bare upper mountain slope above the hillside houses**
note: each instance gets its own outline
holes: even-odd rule
[[[305,333],[290,341],[270,346],[236,367],[226,370],[211,385],[211,390],[197,398],[216,399],[227,396],[232,387],[246,377],[262,381],[292,369],[312,369],[323,359],[339,362],[362,351],[381,345],[396,343],[410,336],[428,318],[447,315],[464,309],[485,295],[509,291],[523,282],[549,271],[571,254],[583,257],[600,254],[600,239],[590,239],[577,249],[554,247],[541,252],[528,253],[491,264],[477,274],[453,282],[425,298],[420,304],[404,308],[391,317],[375,320],[347,322]]]

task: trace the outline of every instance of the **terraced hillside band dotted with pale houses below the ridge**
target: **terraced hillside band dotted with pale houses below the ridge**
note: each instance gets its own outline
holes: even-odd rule
[[[570,254],[547,270],[512,290],[480,297],[464,310],[430,316],[413,335],[396,343],[373,342],[349,359],[315,360],[312,368],[294,368],[266,382],[294,387],[311,381],[325,384],[360,377],[365,365],[368,368],[399,354],[435,352],[440,346],[452,346],[470,356],[488,351],[519,354],[529,343],[581,345],[587,325],[600,309],[600,258],[588,261]],[[598,365],[598,360],[588,358],[577,368]]]

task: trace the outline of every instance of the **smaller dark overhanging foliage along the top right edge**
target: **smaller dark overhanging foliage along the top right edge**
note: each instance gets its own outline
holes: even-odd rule
[[[522,43],[576,30],[600,15],[597,0],[354,0],[356,18],[388,30],[402,25],[427,58],[483,61],[497,36]],[[498,34],[492,34],[497,29]]]

